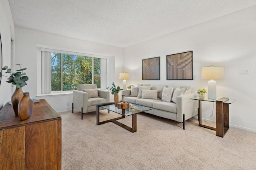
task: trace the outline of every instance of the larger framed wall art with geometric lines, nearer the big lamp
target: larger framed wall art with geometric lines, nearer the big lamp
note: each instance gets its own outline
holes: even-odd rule
[[[193,80],[193,51],[166,55],[167,80]]]

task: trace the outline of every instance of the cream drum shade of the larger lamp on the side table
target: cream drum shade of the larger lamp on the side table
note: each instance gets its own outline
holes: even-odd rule
[[[224,79],[224,67],[223,66],[210,66],[202,67],[201,79]]]

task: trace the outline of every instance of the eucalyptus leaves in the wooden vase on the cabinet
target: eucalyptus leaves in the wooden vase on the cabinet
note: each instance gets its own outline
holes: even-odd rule
[[[20,64],[16,64],[16,65],[20,66]],[[16,87],[18,89],[20,89],[21,87],[27,85],[26,81],[28,81],[28,76],[26,76],[26,73],[23,72],[24,70],[26,70],[26,68],[22,69],[21,66],[20,66],[20,69],[16,70],[17,72],[13,72],[12,73],[12,70],[10,68],[8,69],[8,66],[6,65],[6,66],[4,66],[2,68],[2,70],[6,70],[5,73],[9,73],[10,74],[9,77],[3,75],[5,77],[8,77],[8,81],[6,81],[7,83],[12,83],[13,85],[16,85]]]

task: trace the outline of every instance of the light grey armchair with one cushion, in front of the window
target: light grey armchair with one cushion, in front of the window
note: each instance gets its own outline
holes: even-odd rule
[[[74,108],[83,113],[96,111],[96,105],[109,102],[109,91],[98,90],[95,84],[78,85],[78,90],[73,91],[72,113]]]

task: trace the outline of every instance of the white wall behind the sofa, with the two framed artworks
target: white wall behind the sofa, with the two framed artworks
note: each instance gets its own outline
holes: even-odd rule
[[[222,65],[225,79],[216,80],[217,97],[236,99],[230,105],[230,125],[256,131],[256,6],[198,24],[172,34],[124,48],[124,71],[130,73],[127,85],[138,83],[190,85],[196,93],[207,89],[200,78],[201,67]],[[166,55],[193,50],[194,80],[166,80]],[[142,59],[160,56],[160,81],[142,81]],[[250,75],[237,75],[239,68]],[[203,118],[211,118],[213,105],[203,102]]]

